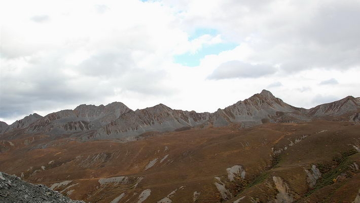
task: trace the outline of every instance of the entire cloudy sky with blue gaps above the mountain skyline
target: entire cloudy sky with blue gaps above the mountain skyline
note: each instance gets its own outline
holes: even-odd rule
[[[358,0],[1,1],[0,120],[80,104],[213,112],[360,96]]]

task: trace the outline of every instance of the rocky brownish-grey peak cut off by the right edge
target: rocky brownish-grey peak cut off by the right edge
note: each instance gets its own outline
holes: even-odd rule
[[[342,115],[351,111],[360,110],[360,97],[354,98],[347,96],[338,101],[328,104],[318,105],[307,111],[307,114],[312,117],[321,117],[329,115]]]

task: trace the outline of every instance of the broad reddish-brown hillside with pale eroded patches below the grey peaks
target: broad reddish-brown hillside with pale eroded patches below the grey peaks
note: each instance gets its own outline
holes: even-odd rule
[[[0,142],[9,147],[0,171],[87,202],[352,202],[360,189],[359,130],[316,120],[126,143],[29,137]]]

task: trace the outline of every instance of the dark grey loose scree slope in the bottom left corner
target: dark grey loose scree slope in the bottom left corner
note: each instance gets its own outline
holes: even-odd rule
[[[51,190],[45,185],[27,183],[16,176],[10,176],[1,172],[0,202],[84,203],[84,201],[71,200],[58,191]]]

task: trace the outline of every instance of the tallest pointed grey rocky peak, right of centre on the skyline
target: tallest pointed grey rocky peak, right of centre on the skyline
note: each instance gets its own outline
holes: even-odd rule
[[[238,101],[225,109],[219,109],[211,115],[214,126],[226,126],[231,122],[241,122],[245,126],[265,122],[277,122],[286,113],[293,113],[294,120],[307,120],[301,115],[304,110],[284,103],[271,92],[263,90],[248,99]]]

